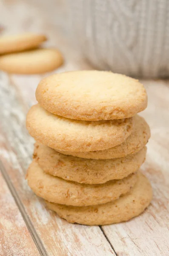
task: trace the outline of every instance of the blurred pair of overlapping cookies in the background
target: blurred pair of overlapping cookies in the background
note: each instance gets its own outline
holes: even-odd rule
[[[58,49],[43,48],[46,35],[23,33],[0,36],[0,70],[15,74],[39,74],[63,64]]]

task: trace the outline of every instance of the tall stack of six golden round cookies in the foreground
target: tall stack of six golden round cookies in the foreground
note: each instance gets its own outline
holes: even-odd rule
[[[71,223],[104,225],[144,211],[152,188],[138,169],[149,126],[137,115],[147,95],[137,80],[106,71],[54,74],[37,87],[26,119],[36,140],[27,180]]]

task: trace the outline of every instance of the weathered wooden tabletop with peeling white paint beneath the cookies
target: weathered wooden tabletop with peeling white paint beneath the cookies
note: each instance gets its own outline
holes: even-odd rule
[[[1,1],[0,29],[49,35],[47,45],[60,48],[66,58],[57,72],[92,69],[49,20],[41,3],[48,1]],[[126,223],[87,227],[69,224],[47,210],[25,180],[34,143],[25,117],[36,102],[35,88],[43,76],[0,72],[0,256],[168,256],[169,81],[142,81],[149,105],[141,115],[152,136],[141,169],[153,186],[151,205]]]

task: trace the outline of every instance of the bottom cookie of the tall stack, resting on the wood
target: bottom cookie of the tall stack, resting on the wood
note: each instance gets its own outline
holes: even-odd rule
[[[119,199],[95,206],[74,207],[53,204],[46,201],[49,209],[70,223],[85,225],[107,225],[128,221],[144,211],[152,200],[152,187],[149,180],[139,174],[136,185]]]

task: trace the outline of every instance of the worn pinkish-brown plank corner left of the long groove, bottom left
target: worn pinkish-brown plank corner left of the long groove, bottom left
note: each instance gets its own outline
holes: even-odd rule
[[[0,173],[0,256],[14,255],[40,256],[40,253]]]

